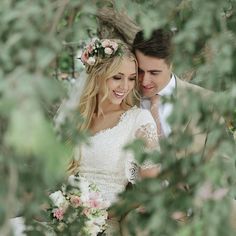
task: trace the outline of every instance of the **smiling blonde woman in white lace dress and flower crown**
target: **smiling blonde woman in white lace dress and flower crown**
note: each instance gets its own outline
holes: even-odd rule
[[[69,170],[95,183],[112,204],[128,182],[158,173],[150,163],[137,165],[132,153],[123,149],[135,138],[142,138],[147,149],[157,148],[157,128],[149,111],[134,106],[138,97],[137,62],[126,44],[113,39],[93,40],[84,49],[81,61],[87,78],[78,103],[84,119],[78,130],[89,130],[91,137],[89,145],[78,145]],[[116,217],[110,216],[107,223],[106,235],[119,234]]]

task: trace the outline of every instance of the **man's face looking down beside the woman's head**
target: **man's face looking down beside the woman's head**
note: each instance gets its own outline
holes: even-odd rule
[[[139,50],[136,50],[135,54],[138,60],[142,96],[152,97],[169,83],[171,66],[164,59],[146,56]]]

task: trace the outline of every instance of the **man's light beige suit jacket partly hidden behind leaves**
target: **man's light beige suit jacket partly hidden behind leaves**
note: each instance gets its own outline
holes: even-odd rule
[[[192,94],[193,98],[191,98],[190,94]],[[195,101],[192,99],[194,99],[194,97],[197,99],[198,95],[200,96],[200,103],[205,103],[205,106],[208,106],[209,110],[212,110],[212,117],[206,117],[205,127],[201,127],[198,122],[199,119],[201,119],[200,107],[198,107],[197,113],[191,113],[191,111],[194,112],[194,109],[192,110],[191,106],[196,105]],[[213,95],[212,91],[176,78],[176,102],[179,104],[181,103],[181,112],[188,113],[187,119],[183,122],[181,130],[182,132],[188,133],[193,139],[191,145],[188,145],[184,150],[177,152],[177,157],[185,157],[191,153],[206,155],[209,134],[212,132],[209,122],[213,119],[213,107],[207,102],[211,95]],[[214,114],[214,119],[220,121],[221,117]],[[172,132],[175,132],[175,130],[179,130],[179,127],[172,127]]]

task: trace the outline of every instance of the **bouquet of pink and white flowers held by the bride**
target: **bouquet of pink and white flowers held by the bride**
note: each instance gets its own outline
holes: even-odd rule
[[[70,231],[73,235],[95,236],[105,230],[110,204],[95,184],[79,174],[69,176],[68,183],[49,197],[50,226],[57,234]]]

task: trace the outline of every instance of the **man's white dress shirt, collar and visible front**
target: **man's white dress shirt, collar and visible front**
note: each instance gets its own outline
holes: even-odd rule
[[[169,83],[158,93],[161,97],[170,96],[173,94],[176,88],[175,75],[172,74]],[[150,99],[143,97],[141,99],[141,107],[150,110]],[[161,127],[163,129],[164,135],[167,137],[171,133],[171,127],[167,122],[168,116],[171,114],[173,105],[170,103],[161,103],[159,105],[159,117],[161,122]]]

